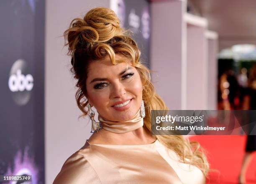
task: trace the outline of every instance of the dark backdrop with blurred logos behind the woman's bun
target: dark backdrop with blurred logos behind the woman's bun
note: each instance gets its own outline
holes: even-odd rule
[[[141,49],[141,61],[150,68],[151,13],[147,0],[110,0],[122,27],[133,32],[133,38]]]

